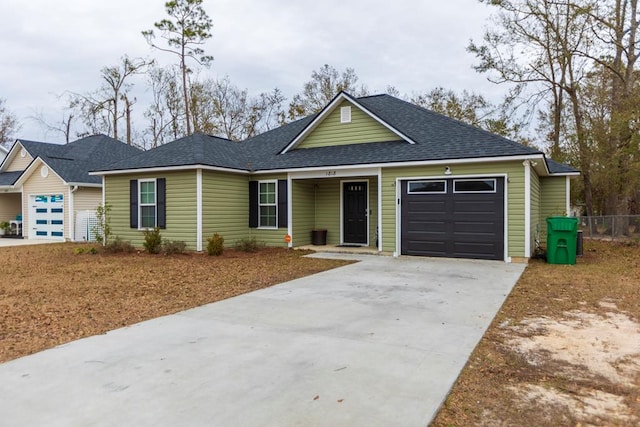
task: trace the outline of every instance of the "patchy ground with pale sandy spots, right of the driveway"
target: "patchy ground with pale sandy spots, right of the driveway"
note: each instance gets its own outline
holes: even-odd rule
[[[433,426],[640,425],[640,245],[532,262]]]

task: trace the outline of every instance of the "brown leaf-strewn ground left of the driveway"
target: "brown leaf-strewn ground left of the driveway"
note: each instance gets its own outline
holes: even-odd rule
[[[0,248],[0,362],[348,263],[284,249],[210,257],[90,248]]]

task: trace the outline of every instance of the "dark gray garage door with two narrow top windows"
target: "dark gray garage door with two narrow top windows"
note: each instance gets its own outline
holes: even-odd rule
[[[403,255],[504,259],[504,178],[402,181]]]

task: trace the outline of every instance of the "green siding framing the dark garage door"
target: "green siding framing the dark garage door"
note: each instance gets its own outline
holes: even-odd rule
[[[444,165],[382,169],[382,250],[396,252],[396,178],[442,177]],[[522,161],[451,165],[453,175],[507,175],[508,255],[524,256],[524,166]]]

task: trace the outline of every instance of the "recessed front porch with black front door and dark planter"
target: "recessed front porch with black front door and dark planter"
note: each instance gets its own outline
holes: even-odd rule
[[[316,251],[379,252],[378,176],[293,178],[291,246]],[[326,245],[312,238],[323,230]]]

